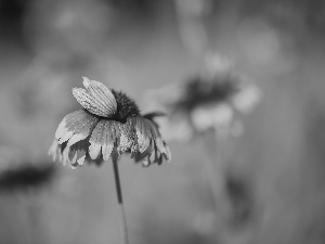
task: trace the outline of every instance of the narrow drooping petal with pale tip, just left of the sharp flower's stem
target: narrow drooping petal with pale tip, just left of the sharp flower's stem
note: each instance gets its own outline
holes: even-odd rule
[[[98,158],[98,156],[101,152],[101,147],[103,146],[104,129],[105,129],[104,125],[105,125],[105,120],[101,119],[91,133],[91,138],[89,140],[89,142],[91,144],[89,146],[89,155],[92,159]]]

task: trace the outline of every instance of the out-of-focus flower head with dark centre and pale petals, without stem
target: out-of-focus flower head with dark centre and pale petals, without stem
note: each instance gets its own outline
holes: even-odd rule
[[[210,129],[224,134],[239,133],[243,127],[235,113],[249,113],[260,101],[261,92],[235,73],[229,60],[211,56],[202,73],[184,84],[151,91],[147,98],[153,97],[158,101],[160,98],[169,114],[161,130],[167,128],[166,137],[172,140],[190,139],[193,133]]]

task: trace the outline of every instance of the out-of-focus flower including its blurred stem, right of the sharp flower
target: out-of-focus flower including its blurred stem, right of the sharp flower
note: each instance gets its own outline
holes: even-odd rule
[[[184,143],[193,138],[205,149],[207,160],[198,164],[206,170],[203,179],[207,179],[210,185],[213,211],[197,215],[196,222],[199,224],[196,231],[209,235],[217,229],[218,235],[222,234],[224,224],[236,224],[240,221],[238,216],[250,211],[250,206],[246,204],[250,201],[246,183],[240,178],[233,180],[227,171],[227,158],[223,155],[227,143],[225,139],[242,134],[244,126],[237,114],[251,112],[261,100],[261,90],[237,73],[229,59],[209,54],[198,75],[181,86],[167,85],[153,89],[145,98],[145,104],[166,111],[166,118],[158,124],[167,140]],[[240,201],[237,201],[237,195]],[[216,236],[216,240],[219,239]]]

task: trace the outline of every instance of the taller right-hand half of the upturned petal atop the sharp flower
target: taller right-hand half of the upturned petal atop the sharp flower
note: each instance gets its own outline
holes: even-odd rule
[[[112,91],[100,81],[90,80],[87,77],[82,78],[83,86],[86,87],[88,92],[92,97],[96,98],[102,105],[108,108],[108,111],[115,113],[117,110],[117,103]]]

